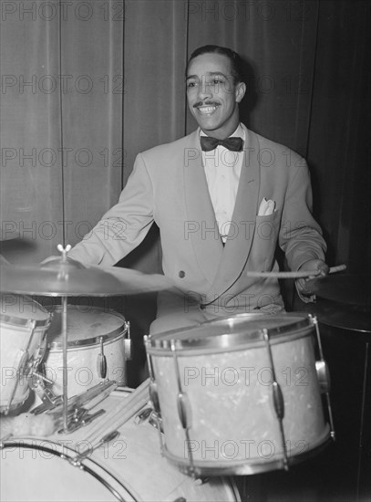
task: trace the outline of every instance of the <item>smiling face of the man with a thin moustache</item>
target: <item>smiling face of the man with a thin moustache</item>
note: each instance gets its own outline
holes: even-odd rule
[[[233,83],[231,62],[223,54],[208,53],[191,60],[187,99],[191,114],[209,136],[223,140],[239,124],[238,103],[246,86]]]

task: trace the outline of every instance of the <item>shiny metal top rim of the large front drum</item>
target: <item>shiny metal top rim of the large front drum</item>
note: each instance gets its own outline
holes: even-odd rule
[[[256,314],[256,320],[261,317],[262,314]],[[298,331],[302,331],[303,329],[308,329],[313,327],[313,321],[312,317],[310,315],[297,315],[295,312],[290,312],[290,313],[285,313],[285,314],[279,314],[278,316],[271,316],[267,315],[267,319],[271,318],[274,319],[274,317],[284,317],[286,319],[299,319],[294,322],[291,322],[290,324],[287,324],[282,327],[278,328],[270,328],[267,329],[268,335],[271,338],[273,343],[276,342],[277,340],[282,340],[284,337],[290,336],[290,335],[297,335]],[[242,344],[246,343],[253,343],[253,342],[262,342],[263,341],[263,329],[262,328],[257,328],[253,330],[250,333],[246,332],[239,332],[239,333],[233,333],[231,332],[231,326],[227,326],[226,331],[229,329],[229,332],[223,332],[223,333],[218,333],[218,334],[208,334],[205,335],[204,337],[200,338],[192,338],[192,331],[202,329],[202,328],[211,328],[212,325],[222,324],[222,322],[226,323],[230,320],[234,319],[243,319],[246,317],[246,314],[237,314],[236,316],[228,316],[224,317],[221,319],[213,319],[211,321],[204,322],[202,324],[197,324],[197,325],[192,325],[189,328],[180,328],[180,329],[174,329],[170,331],[164,331],[162,333],[156,333],[155,335],[149,336],[149,339],[147,341],[147,350],[149,353],[153,354],[159,354],[160,351],[164,351],[166,353],[169,353],[171,351],[171,344],[174,344],[175,350],[198,350],[198,349],[223,349],[223,350],[228,350],[228,349],[236,349],[238,346],[241,346]],[[266,316],[264,316],[265,318]],[[247,321],[248,318],[246,318]],[[253,318],[255,320],[255,317]],[[183,333],[188,333],[188,337],[184,338],[183,340],[177,340],[176,336],[183,334]],[[170,336],[173,335],[173,338],[170,338]],[[164,339],[164,337],[166,337]]]

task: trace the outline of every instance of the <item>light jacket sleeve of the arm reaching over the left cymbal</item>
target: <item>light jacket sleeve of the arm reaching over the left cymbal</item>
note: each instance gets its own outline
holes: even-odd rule
[[[152,223],[152,183],[139,153],[119,203],[103,215],[68,256],[85,264],[112,266],[139,246]]]

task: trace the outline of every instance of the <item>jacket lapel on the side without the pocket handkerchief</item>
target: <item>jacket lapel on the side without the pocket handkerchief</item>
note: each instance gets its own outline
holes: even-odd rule
[[[223,246],[202,166],[199,130],[188,137],[183,170],[188,235],[199,267],[212,284],[218,274]]]

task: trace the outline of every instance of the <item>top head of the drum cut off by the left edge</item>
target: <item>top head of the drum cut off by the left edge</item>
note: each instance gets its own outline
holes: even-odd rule
[[[0,295],[0,322],[14,326],[26,326],[35,320],[36,327],[47,326],[49,312],[34,299],[22,295],[3,293]]]

